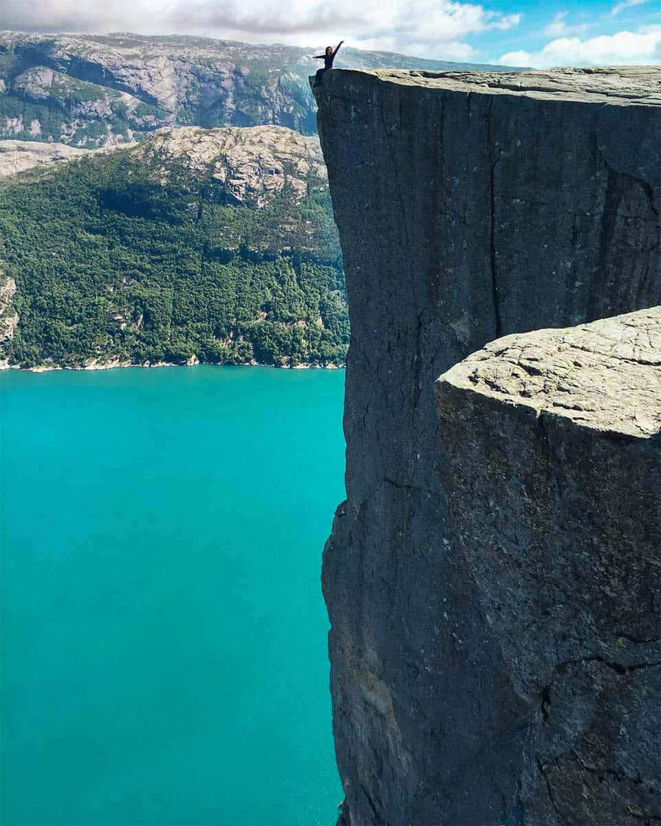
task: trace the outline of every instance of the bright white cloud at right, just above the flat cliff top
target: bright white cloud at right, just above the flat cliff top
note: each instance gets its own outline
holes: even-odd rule
[[[498,61],[518,66],[604,66],[661,63],[661,26],[646,26],[644,31],[618,31],[581,40],[560,37],[541,51],[508,52]]]

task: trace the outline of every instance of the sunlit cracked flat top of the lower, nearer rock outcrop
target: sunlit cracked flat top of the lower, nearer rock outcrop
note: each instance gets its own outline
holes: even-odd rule
[[[661,307],[507,335],[437,382],[648,439],[661,430]]]

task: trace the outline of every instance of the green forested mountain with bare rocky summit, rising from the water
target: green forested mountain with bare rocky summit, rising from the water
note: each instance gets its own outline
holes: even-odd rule
[[[23,367],[344,361],[316,137],[166,127],[0,181],[0,358]]]

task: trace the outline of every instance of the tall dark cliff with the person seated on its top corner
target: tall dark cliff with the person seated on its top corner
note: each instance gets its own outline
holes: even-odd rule
[[[333,70],[315,90],[352,322],[323,558],[347,822],[540,822],[544,686],[522,688],[460,553],[432,386],[498,336],[661,302],[660,78]]]

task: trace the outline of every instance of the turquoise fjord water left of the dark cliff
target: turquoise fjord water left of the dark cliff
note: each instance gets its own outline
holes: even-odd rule
[[[4,371],[2,824],[331,824],[341,371]]]

